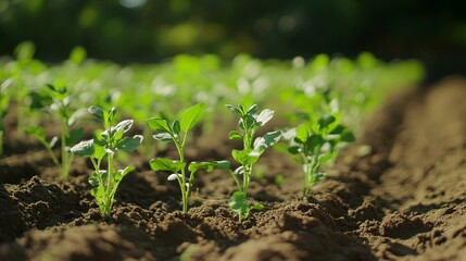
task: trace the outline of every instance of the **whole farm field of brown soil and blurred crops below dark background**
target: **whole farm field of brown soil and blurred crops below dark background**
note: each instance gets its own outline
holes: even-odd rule
[[[420,64],[382,62],[370,53],[308,61],[243,54],[230,62],[178,55],[160,64],[118,65],[86,59],[77,48],[70,60],[50,65],[35,60],[25,44],[0,63],[0,260],[466,258],[464,78],[420,87]],[[194,104],[203,104],[203,117],[186,123],[189,113],[179,112]],[[242,181],[252,163],[238,162],[232,151],[247,150],[229,137],[245,130],[249,120],[241,124],[226,104],[257,104],[255,137],[281,134],[277,144],[264,138],[267,146],[254,145],[247,153],[257,161],[242,202],[248,213],[230,208],[241,190],[232,176]],[[115,153],[109,162],[134,166],[117,186],[109,215],[88,181],[96,164],[65,148],[106,137],[89,107],[103,108],[102,115],[115,107],[113,125],[134,120],[125,136],[140,144],[105,146],[105,157]],[[151,159],[175,160],[179,150],[148,119],[180,119],[168,130],[188,133],[186,162],[228,161],[231,170],[200,170],[186,187],[176,183],[180,170],[154,171]],[[113,132],[105,122],[104,128]],[[300,129],[307,129],[305,138]],[[313,135],[322,146],[307,142]],[[55,146],[48,151],[40,137]],[[300,140],[314,148],[311,154],[318,152],[316,161],[329,158],[316,167],[326,178],[313,176],[310,191],[303,191],[305,162],[287,151]],[[64,158],[70,165],[60,164]],[[112,172],[109,162],[102,169]],[[185,188],[191,189],[186,213]],[[254,209],[256,203],[262,207]]]

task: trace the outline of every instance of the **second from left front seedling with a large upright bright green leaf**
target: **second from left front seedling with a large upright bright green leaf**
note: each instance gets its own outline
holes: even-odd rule
[[[178,182],[181,190],[182,213],[188,212],[189,195],[198,171],[204,170],[211,172],[214,169],[229,170],[228,161],[190,162],[188,170],[186,170],[185,148],[188,140],[188,133],[202,119],[204,110],[205,104],[203,103],[192,105],[181,113],[180,120],[175,120],[169,125],[165,119],[161,117],[150,117],[147,120],[149,127],[158,133],[153,135],[153,138],[159,141],[174,142],[178,151],[179,160],[156,158],[150,161],[150,165],[153,171],[173,172],[168,176],[168,181]],[[187,175],[187,171],[189,175]]]

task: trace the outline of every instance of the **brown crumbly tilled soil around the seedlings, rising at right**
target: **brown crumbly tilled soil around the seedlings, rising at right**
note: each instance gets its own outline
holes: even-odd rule
[[[200,173],[182,214],[175,184],[141,154],[102,219],[85,159],[63,182],[40,145],[7,133],[0,260],[466,260],[465,98],[457,77],[392,97],[305,200],[299,167],[265,154],[249,194],[265,210],[242,224],[228,173]],[[207,140],[188,158],[228,158],[235,146]]]

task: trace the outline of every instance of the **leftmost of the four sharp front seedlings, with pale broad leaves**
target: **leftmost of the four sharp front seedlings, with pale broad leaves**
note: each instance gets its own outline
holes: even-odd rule
[[[110,216],[119,182],[135,170],[134,166],[115,170],[116,153],[136,150],[142,142],[142,136],[123,137],[131,128],[133,120],[124,120],[112,126],[115,108],[104,111],[98,107],[90,107],[88,111],[103,122],[104,130],[98,130],[93,139],[73,146],[71,151],[77,156],[89,157],[95,169],[89,177],[89,184],[93,187],[90,194],[96,198],[102,216]],[[106,170],[103,170],[101,163],[105,158]]]

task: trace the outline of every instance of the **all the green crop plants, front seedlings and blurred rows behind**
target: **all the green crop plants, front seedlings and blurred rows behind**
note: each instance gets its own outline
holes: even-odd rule
[[[154,157],[150,161],[154,171],[173,173],[168,179],[179,184],[184,212],[198,171],[229,172],[238,187],[230,208],[240,221],[250,210],[262,208],[249,206],[247,194],[253,166],[267,148],[285,140],[287,150],[302,165],[306,197],[313,184],[325,177],[322,166],[335,158],[342,144],[354,139],[351,129],[357,132],[362,116],[380,103],[390,87],[423,77],[423,67],[415,61],[385,63],[370,53],[362,53],[355,61],[320,54],[308,62],[303,58],[263,62],[241,54],[229,64],[212,54],[181,54],[160,64],[122,66],[86,59],[86,51],[78,47],[67,61],[48,65],[34,59],[30,42],[20,45],[15,59],[2,58],[0,64],[0,140],[5,130],[35,136],[65,179],[75,156],[89,157],[95,167],[89,178],[91,194],[102,215],[110,214],[118,183],[133,171],[131,166],[115,169],[116,153],[139,149]],[[223,113],[228,111],[224,110],[226,103],[238,104],[227,105],[230,115]],[[85,130],[75,124],[87,114],[83,108],[90,104],[87,111],[101,121],[103,129],[79,142]],[[274,110],[259,111],[260,107]],[[121,113],[116,114],[115,108]],[[175,113],[184,108],[188,109]],[[3,124],[12,110],[17,117],[14,130]],[[49,137],[40,126],[45,115],[49,123],[60,123],[56,137]],[[243,144],[241,150],[231,151],[239,167],[230,170],[226,160],[186,162],[188,134],[201,119],[201,135],[209,135],[235,115],[238,129],[231,130],[229,138]],[[257,128],[274,115],[285,127],[256,137]],[[140,127],[142,135],[125,136],[135,122],[147,123]],[[142,141],[150,135],[154,139]],[[154,142],[173,142],[179,159],[156,158]],[[55,146],[60,146],[59,153]]]

